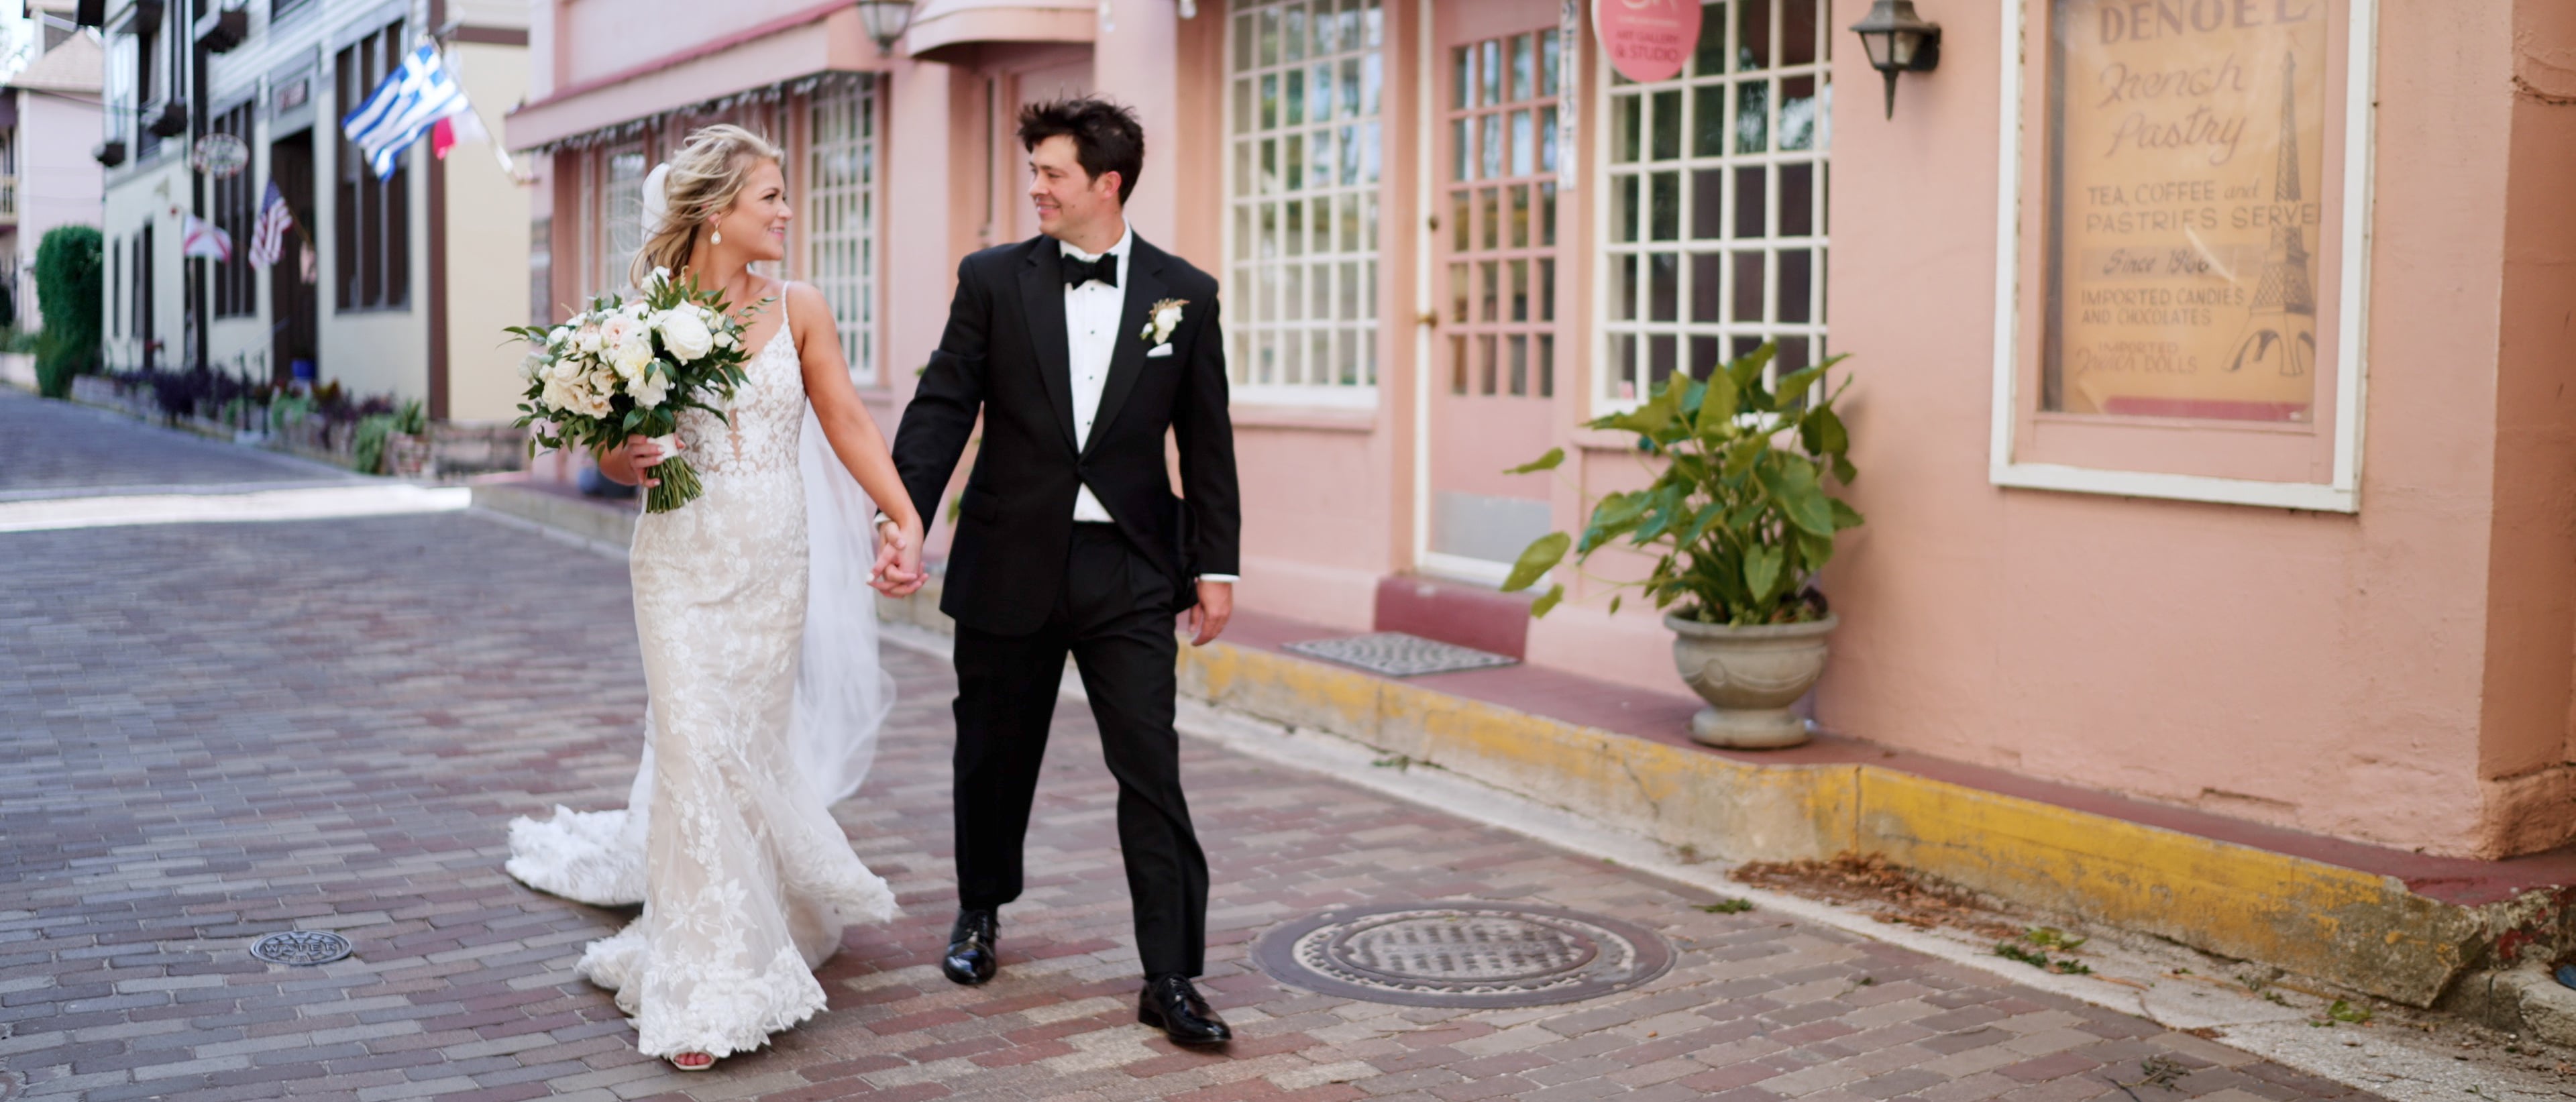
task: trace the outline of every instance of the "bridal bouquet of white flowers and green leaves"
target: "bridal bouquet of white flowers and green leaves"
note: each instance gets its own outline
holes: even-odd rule
[[[667,453],[680,409],[721,417],[750,358],[724,296],[698,291],[698,281],[675,283],[665,268],[654,268],[634,299],[600,296],[551,330],[518,324],[507,332],[536,345],[518,366],[528,384],[518,425],[536,425],[536,443],[546,448],[592,453],[629,435],[649,435]],[[647,512],[677,510],[703,492],[688,456],[657,463],[654,479],[662,484],[644,494]]]

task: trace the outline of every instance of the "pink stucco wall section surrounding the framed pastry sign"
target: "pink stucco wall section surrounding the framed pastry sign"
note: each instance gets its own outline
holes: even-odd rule
[[[1862,95],[1834,118],[1834,342],[1862,381],[1852,458],[1880,474],[1829,572],[1819,716],[2427,852],[2566,839],[2571,456],[2537,360],[2568,337],[2532,309],[2566,301],[2568,214],[2532,193],[2566,178],[2566,124],[2506,82],[2514,5],[2383,5],[2357,515],[1989,484],[2002,31],[1986,5],[1942,21],[1896,121]],[[2519,345],[2509,317],[2548,332]],[[2555,801],[2499,814],[2535,780]]]

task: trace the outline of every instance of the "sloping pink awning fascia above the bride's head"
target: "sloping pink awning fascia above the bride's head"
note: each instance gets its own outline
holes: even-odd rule
[[[502,131],[510,149],[549,149],[680,108],[881,67],[876,44],[858,23],[858,8],[850,0],[817,3],[675,57],[559,88],[510,111]]]

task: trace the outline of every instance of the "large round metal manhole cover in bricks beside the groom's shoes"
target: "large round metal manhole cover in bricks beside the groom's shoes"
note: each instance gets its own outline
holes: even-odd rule
[[[1270,978],[1401,1007],[1546,1007],[1672,968],[1651,929],[1548,906],[1440,901],[1316,914],[1252,948]]]

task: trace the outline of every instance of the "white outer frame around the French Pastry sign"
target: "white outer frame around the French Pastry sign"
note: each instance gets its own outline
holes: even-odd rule
[[[2022,39],[2030,3],[2004,3],[2004,95],[2002,142],[1994,203],[1994,438],[1986,451],[1986,479],[1996,487],[2063,489],[2076,494],[2169,497],[2182,502],[2269,505],[2285,510],[2360,512],[2362,507],[2362,381],[2370,366],[2370,165],[2378,139],[2378,0],[2352,0],[2352,31],[2344,36],[2344,255],[2336,301],[2336,348],[2344,363],[2334,371],[2334,479],[2262,481],[2205,474],[2107,471],[2066,463],[2017,463],[2014,430],[2022,409],[2022,95],[2030,59]],[[2045,59],[2035,62],[2045,64]]]

